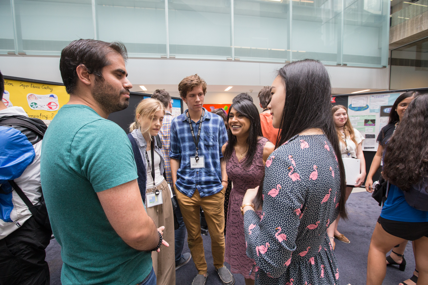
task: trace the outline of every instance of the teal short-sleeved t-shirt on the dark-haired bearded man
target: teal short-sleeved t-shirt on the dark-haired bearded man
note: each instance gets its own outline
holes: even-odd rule
[[[116,233],[97,192],[137,179],[125,132],[84,105],[59,109],[40,163],[52,231],[61,245],[63,285],[135,285],[152,270],[151,253]]]

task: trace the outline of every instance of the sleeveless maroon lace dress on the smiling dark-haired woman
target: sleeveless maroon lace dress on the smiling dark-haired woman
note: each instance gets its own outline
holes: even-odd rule
[[[261,138],[257,144],[257,150],[254,154],[253,163],[250,167],[244,167],[246,158],[240,162],[233,150],[231,158],[226,162],[226,173],[233,182],[233,188],[230,192],[229,211],[227,213],[226,224],[226,250],[224,259],[230,264],[232,273],[240,273],[244,278],[254,279],[253,268],[254,259],[250,259],[246,253],[244,217],[241,214],[242,200],[247,189],[259,186],[265,166],[263,165],[263,148],[267,138]]]

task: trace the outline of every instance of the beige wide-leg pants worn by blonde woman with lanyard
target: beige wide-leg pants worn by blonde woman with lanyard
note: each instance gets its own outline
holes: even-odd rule
[[[147,214],[153,219],[156,227],[165,226],[163,239],[169,247],[160,246],[160,252],[152,252],[153,269],[156,274],[156,285],[175,285],[175,250],[174,250],[174,213],[172,212],[171,194],[168,182],[163,180],[155,188],[147,189],[146,193],[162,192],[163,204],[147,208]]]

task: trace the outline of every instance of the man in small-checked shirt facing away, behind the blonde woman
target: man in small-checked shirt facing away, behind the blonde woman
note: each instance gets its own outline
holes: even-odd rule
[[[155,92],[153,92],[152,96],[153,99],[159,100],[163,103],[163,106],[165,106],[165,116],[163,117],[163,123],[162,127],[159,130],[159,137],[160,142],[162,143],[162,148],[160,149],[163,154],[163,159],[165,160],[164,165],[164,173],[165,173],[165,179],[166,182],[169,183],[169,185],[172,188],[172,194],[174,195],[175,202],[177,202],[177,197],[175,197],[175,191],[172,187],[172,176],[171,176],[171,164],[169,162],[169,149],[170,149],[170,137],[171,137],[171,122],[174,118],[172,116],[172,101],[171,96],[168,92],[165,91],[165,89],[159,90],[156,89]],[[177,202],[177,208],[175,209],[175,216],[177,217],[179,228],[175,230],[175,270],[182,267],[183,265],[187,264],[190,261],[190,258],[192,257],[190,253],[184,253],[181,254],[183,251],[184,246],[184,237],[186,236],[186,227],[184,226],[183,217],[181,216],[180,206],[178,206]]]

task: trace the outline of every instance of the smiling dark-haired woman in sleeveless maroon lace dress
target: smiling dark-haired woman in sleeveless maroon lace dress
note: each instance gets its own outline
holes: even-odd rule
[[[223,145],[222,151],[233,188],[229,198],[224,259],[230,264],[230,271],[244,275],[245,284],[249,285],[254,284],[254,273],[250,275],[254,259],[246,254],[242,199],[248,188],[260,184],[265,174],[266,159],[275,146],[262,137],[259,112],[248,100],[230,106],[228,132],[229,141]]]

